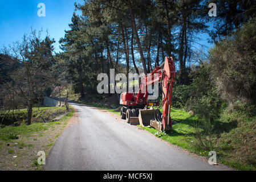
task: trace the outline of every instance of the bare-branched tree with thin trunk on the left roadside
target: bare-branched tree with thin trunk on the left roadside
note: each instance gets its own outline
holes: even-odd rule
[[[15,71],[10,82],[5,83],[7,90],[23,97],[27,104],[27,125],[31,124],[32,107],[40,92],[50,86],[54,80],[51,69],[54,64],[52,44],[55,42],[47,35],[41,39],[42,30],[31,29],[29,36],[24,35],[22,42],[15,42],[10,46],[9,55],[13,60],[21,64],[21,68]]]

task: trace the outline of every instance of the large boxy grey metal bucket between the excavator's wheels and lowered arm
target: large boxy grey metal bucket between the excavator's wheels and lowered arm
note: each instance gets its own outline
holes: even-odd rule
[[[143,127],[151,126],[151,120],[155,119],[155,109],[143,109],[139,112],[139,122]]]

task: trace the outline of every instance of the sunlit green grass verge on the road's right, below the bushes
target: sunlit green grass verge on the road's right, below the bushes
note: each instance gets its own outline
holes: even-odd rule
[[[198,118],[186,111],[172,109],[171,117],[177,123],[173,125],[172,131],[160,138],[206,158],[209,158],[209,151],[216,151],[217,162],[231,168],[256,170],[256,154],[255,149],[253,149],[253,147],[255,148],[255,141],[252,142],[253,137],[255,138],[255,118],[248,119],[248,117],[241,117],[241,114],[234,113],[233,115],[224,113],[220,120],[216,121],[212,136],[213,146],[209,150],[202,149],[196,144],[198,142],[196,137]],[[238,121],[240,126],[235,125],[236,121],[233,118],[240,118],[243,122]],[[152,134],[157,132],[153,128],[145,127],[143,129]],[[203,135],[201,137],[209,138],[209,136]]]

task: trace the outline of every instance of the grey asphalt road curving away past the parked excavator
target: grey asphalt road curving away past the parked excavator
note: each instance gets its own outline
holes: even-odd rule
[[[225,170],[168,144],[113,114],[80,104],[79,123],[56,140],[45,170]],[[117,118],[117,119],[116,119]]]

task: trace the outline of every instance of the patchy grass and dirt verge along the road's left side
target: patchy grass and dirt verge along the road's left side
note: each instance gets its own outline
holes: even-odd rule
[[[62,107],[42,107],[39,110],[51,110],[54,113],[60,108]],[[56,122],[38,122],[29,126],[22,124],[0,129],[0,169],[15,171],[43,169],[43,166],[37,163],[38,152],[44,151],[46,156],[48,155],[73,113],[74,109],[71,107],[70,113]]]

